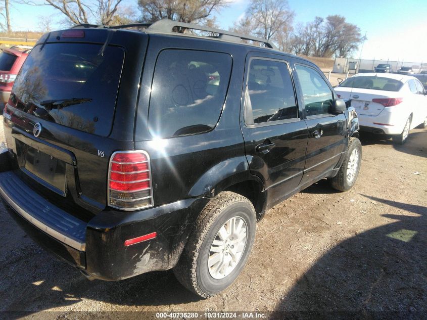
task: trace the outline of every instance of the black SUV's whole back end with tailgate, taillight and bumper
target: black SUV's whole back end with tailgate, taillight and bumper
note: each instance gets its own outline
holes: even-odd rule
[[[101,28],[44,35],[4,110],[0,198],[39,244],[90,278],[172,267],[184,211],[206,204],[143,210],[154,205],[149,155],[126,150],[134,149],[147,38]],[[154,238],[144,250],[132,246]]]

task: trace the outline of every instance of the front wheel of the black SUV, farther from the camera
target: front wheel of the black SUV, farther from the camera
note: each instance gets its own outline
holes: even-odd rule
[[[362,144],[357,138],[350,138],[347,153],[344,156],[338,174],[331,178],[330,185],[339,191],[350,190],[359,175],[360,164],[362,162]]]

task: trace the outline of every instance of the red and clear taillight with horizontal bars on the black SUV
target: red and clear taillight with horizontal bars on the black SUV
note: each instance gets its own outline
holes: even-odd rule
[[[153,206],[150,157],[145,151],[113,153],[108,170],[108,205],[121,210]]]

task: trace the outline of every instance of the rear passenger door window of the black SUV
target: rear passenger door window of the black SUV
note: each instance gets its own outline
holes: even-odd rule
[[[251,61],[246,108],[252,109],[253,122],[251,119],[249,123],[298,117],[294,85],[286,63],[262,59]]]

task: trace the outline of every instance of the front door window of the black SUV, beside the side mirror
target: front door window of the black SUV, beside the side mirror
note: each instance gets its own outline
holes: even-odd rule
[[[295,66],[303,92],[307,116],[329,113],[332,105],[332,92],[326,81],[313,68]]]

